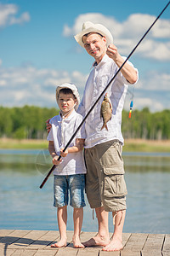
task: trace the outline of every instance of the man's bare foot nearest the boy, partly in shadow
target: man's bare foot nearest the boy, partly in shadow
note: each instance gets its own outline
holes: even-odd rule
[[[105,247],[106,245],[108,245],[110,242],[109,236],[108,237],[104,237],[104,236],[99,236],[99,234],[97,234],[96,236],[94,236],[93,238],[89,239],[88,241],[82,242],[82,244],[85,247]]]

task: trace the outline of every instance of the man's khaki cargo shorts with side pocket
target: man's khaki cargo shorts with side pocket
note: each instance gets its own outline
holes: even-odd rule
[[[118,140],[85,148],[86,193],[91,208],[106,212],[125,210],[127,187],[124,180],[122,143]]]

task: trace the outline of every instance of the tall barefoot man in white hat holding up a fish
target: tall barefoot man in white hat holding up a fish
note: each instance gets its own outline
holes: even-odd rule
[[[125,58],[113,44],[111,32],[105,26],[90,21],[82,25],[82,32],[75,36],[89,55],[94,57],[79,113],[85,115],[110,82]],[[86,193],[91,208],[95,208],[99,232],[84,243],[85,246],[103,246],[104,251],[122,249],[122,229],[126,214],[127,189],[122,160],[123,137],[121,131],[122,108],[128,84],[135,84],[138,71],[127,61],[106,91],[112,103],[112,116],[107,129],[102,128],[100,107],[97,103],[86,119],[85,160],[87,166]],[[115,228],[109,237],[108,212],[112,212]]]

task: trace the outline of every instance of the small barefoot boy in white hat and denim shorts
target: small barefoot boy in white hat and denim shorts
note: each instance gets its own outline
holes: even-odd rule
[[[76,138],[70,147],[63,152],[77,126],[82,121],[82,116],[75,111],[80,102],[77,87],[74,84],[61,84],[56,89],[56,100],[59,105],[59,115],[50,120],[52,125],[48,134],[48,150],[53,158],[54,169],[54,207],[58,207],[57,217],[59,224],[60,240],[51,247],[66,246],[66,221],[68,191],[70,190],[70,205],[74,207],[74,235],[73,246],[84,247],[80,241],[82,229],[85,173],[82,148],[84,134],[82,129],[78,131]],[[58,160],[59,154],[62,159]]]

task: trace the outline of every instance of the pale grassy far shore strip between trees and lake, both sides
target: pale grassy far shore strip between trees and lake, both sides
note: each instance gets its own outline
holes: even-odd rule
[[[48,148],[46,140],[16,140],[0,138],[0,149],[44,149]],[[162,152],[170,153],[170,140],[125,139],[125,152]]]

